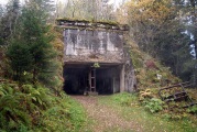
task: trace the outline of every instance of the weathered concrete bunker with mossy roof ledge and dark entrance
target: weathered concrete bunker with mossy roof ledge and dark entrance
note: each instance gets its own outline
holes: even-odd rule
[[[70,95],[133,91],[134,70],[123,35],[127,25],[57,20],[64,29],[64,90]],[[125,72],[127,70],[127,72]]]

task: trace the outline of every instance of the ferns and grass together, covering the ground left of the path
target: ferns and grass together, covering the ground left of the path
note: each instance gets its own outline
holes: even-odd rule
[[[79,131],[86,114],[80,105],[42,86],[0,84],[0,131]]]

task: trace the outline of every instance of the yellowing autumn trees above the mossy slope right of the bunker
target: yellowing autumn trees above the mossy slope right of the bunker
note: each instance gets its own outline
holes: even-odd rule
[[[191,21],[186,19],[190,15],[184,9],[187,6],[174,3],[171,0],[133,0],[128,1],[127,6],[132,42],[136,43],[141,51],[171,67],[173,74],[184,80],[189,80],[195,61],[191,59],[188,50],[189,35],[183,33],[188,31],[190,25],[194,26],[194,24],[189,26],[186,24]],[[180,7],[183,10],[179,10]],[[182,21],[183,18],[186,19],[186,23]],[[138,57],[135,50],[131,51],[133,65],[141,68],[143,59]]]

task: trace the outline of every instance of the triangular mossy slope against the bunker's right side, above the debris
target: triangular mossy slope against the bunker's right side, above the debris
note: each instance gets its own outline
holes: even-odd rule
[[[132,64],[135,68],[139,89],[158,88],[180,81],[179,78],[172,74],[169,67],[165,67],[161,64],[160,59],[155,59],[147,53],[141,51],[138,44],[130,37],[127,36],[125,38],[128,40],[127,45],[131,48],[130,57],[132,58]],[[152,67],[149,67],[146,64],[149,62],[152,63]],[[160,79],[157,78],[157,75],[161,75]]]

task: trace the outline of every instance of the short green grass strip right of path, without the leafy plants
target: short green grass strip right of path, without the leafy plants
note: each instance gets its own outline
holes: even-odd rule
[[[139,103],[136,95],[118,94],[100,98],[99,102],[116,109],[121,118],[135,122],[145,132],[197,132],[195,116],[171,120],[167,113],[153,114]]]

